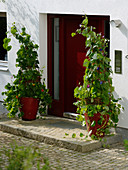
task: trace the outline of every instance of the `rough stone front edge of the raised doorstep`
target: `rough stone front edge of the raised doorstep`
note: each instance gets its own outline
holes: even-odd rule
[[[0,130],[3,132],[11,133],[14,135],[34,139],[40,142],[44,142],[46,144],[56,145],[58,147],[63,147],[70,150],[75,150],[78,152],[89,152],[95,149],[99,149],[104,145],[111,145],[115,143],[122,142],[122,137],[119,134],[115,134],[114,136],[104,137],[106,140],[105,142],[101,141],[86,141],[86,142],[77,142],[77,141],[68,141],[67,139],[62,139],[58,137],[51,137],[50,135],[46,134],[38,134],[35,132],[29,132],[23,130],[21,128],[16,128],[14,126],[5,125],[0,123]]]

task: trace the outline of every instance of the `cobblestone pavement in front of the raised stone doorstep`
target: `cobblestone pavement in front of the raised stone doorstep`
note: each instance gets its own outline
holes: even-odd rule
[[[48,157],[52,170],[128,170],[128,152],[121,144],[109,149],[80,153],[0,131],[0,148],[9,148],[14,140],[18,145],[32,144],[41,148],[41,152]]]

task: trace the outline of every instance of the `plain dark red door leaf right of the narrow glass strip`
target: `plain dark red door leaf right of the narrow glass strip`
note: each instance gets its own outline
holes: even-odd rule
[[[65,19],[65,86],[64,86],[64,112],[75,112],[74,88],[82,81],[85,68],[82,62],[85,58],[85,38],[83,36],[71,37],[71,33],[79,27],[82,18]],[[80,56],[82,54],[82,57]]]

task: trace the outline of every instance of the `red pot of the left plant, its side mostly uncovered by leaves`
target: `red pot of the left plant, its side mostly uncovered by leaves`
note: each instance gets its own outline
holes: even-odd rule
[[[24,113],[22,120],[35,120],[39,106],[39,100],[32,97],[20,98],[21,108],[20,111]]]

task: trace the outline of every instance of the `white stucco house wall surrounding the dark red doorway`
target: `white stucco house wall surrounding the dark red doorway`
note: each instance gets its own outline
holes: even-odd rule
[[[128,1],[126,0],[6,0],[0,3],[0,12],[7,12],[8,29],[11,23],[26,26],[36,43],[40,45],[40,65],[45,66],[47,82],[47,13],[84,15],[109,15],[110,20],[120,19],[121,27],[110,24],[110,58],[114,70],[114,50],[122,51],[122,74],[113,74],[115,95],[122,98],[125,111],[120,115],[119,126],[128,128]],[[0,70],[0,93],[11,81],[15,68],[16,50],[19,44],[13,40],[13,49],[8,53],[8,71]],[[2,100],[0,95],[0,100]]]

